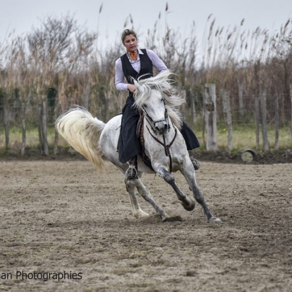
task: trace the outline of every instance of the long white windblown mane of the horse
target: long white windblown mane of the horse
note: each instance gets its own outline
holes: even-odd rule
[[[134,81],[137,88],[134,93],[134,106],[141,110],[143,104],[150,95],[151,89],[156,89],[162,93],[165,108],[167,109],[170,120],[177,128],[181,129],[183,117],[179,111],[179,107],[185,103],[185,98],[178,94],[175,87],[172,86],[173,80],[169,78],[171,74],[172,73],[167,70],[154,77],[140,79],[143,77],[141,76],[138,78],[138,81]]]

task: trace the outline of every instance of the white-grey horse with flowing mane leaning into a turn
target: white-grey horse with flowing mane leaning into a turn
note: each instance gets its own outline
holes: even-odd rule
[[[163,221],[171,220],[142,183],[143,172],[155,172],[163,177],[165,182],[173,187],[183,208],[188,211],[193,210],[195,202],[183,194],[171,173],[179,170],[196,201],[201,204],[208,221],[221,222],[209,211],[196,183],[195,170],[180,132],[182,117],[178,107],[185,101],[181,96],[174,95],[169,74],[166,71],[155,77],[135,81],[137,89],[134,93],[134,105],[144,112],[141,139],[144,141],[145,153],[150,158],[154,171],[144,164],[141,157],[138,157],[139,178],[133,181],[125,180],[133,216],[135,218],[149,216],[138,204],[136,198],[138,191],[154,207]],[[74,108],[56,120],[55,128],[76,151],[97,167],[102,167],[105,161],[110,161],[125,172],[128,164],[120,163],[117,153],[121,118],[122,115],[117,115],[105,124],[93,118],[87,110]]]

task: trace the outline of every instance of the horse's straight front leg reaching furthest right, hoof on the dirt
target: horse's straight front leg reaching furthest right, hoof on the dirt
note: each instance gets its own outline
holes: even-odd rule
[[[210,210],[205,202],[205,199],[201,193],[201,190],[199,189],[199,187],[197,185],[196,178],[195,178],[195,170],[194,170],[192,162],[190,161],[190,159],[188,157],[186,157],[186,159],[183,163],[183,168],[181,169],[181,173],[185,177],[188,185],[190,186],[196,201],[202,206],[203,211],[204,211],[208,221],[215,222],[215,223],[221,223],[221,220],[219,218],[214,217],[212,215],[212,213],[210,212]]]

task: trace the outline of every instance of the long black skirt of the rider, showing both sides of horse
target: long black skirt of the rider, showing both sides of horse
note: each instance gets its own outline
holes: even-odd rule
[[[133,104],[134,98],[133,95],[130,94],[122,110],[123,116],[120,137],[118,140],[119,161],[121,163],[128,162],[131,158],[135,157],[141,152],[140,139],[136,136],[139,114],[136,112],[136,109],[133,108]],[[200,147],[200,143],[195,133],[184,122],[181,133],[185,140],[187,150]]]

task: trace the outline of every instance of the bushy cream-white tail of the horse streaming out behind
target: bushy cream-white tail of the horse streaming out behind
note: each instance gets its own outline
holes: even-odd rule
[[[55,122],[56,130],[70,146],[98,168],[105,166],[99,146],[99,137],[104,127],[105,123],[80,107],[68,110]]]

